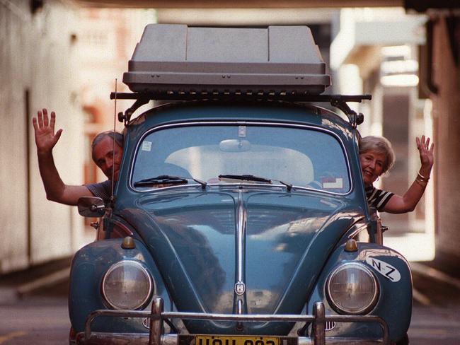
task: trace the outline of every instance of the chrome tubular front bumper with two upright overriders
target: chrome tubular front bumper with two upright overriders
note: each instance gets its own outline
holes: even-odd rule
[[[149,333],[102,333],[91,332],[91,322],[96,317],[148,317]],[[156,298],[151,306],[151,312],[136,310],[95,310],[88,315],[85,324],[85,332],[76,337],[77,344],[134,344],[134,345],[178,345],[178,334],[163,334],[163,320],[226,320],[238,322],[257,321],[286,321],[286,322],[311,322],[312,337],[297,337],[298,345],[334,345],[334,344],[355,344],[389,345],[389,329],[386,322],[378,316],[358,315],[325,315],[324,304],[316,302],[313,315],[234,315],[234,314],[205,314],[200,312],[165,312],[163,311],[163,300]],[[355,338],[326,338],[326,321],[331,322],[377,322],[382,329],[381,339],[355,339]],[[191,334],[192,335],[192,334]],[[268,334],[272,335],[272,334]],[[282,339],[283,337],[280,337]],[[284,337],[287,338],[287,337]]]

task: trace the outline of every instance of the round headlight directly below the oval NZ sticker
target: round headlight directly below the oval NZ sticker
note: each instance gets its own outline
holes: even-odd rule
[[[350,262],[335,269],[326,283],[330,305],[340,313],[365,314],[374,308],[379,285],[362,264]]]

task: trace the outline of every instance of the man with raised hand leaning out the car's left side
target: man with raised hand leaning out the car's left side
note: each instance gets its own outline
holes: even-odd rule
[[[123,138],[122,134],[114,131],[105,131],[94,138],[91,145],[94,163],[98,165],[109,180],[91,185],[66,185],[62,182],[57,172],[52,156],[52,148],[61,137],[62,129],[54,134],[56,114],[43,109],[38,111],[37,117],[32,119],[35,131],[35,144],[37,145],[38,167],[42,177],[43,186],[48,200],[61,204],[76,205],[80,197],[101,197],[104,201],[110,199],[113,180],[118,179],[118,170],[122,160]],[[115,139],[115,151],[113,140]]]

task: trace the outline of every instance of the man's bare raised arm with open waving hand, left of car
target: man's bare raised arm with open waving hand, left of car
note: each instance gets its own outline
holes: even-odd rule
[[[45,187],[48,200],[61,204],[76,205],[80,197],[92,197],[93,194],[85,186],[71,186],[62,182],[59,172],[52,156],[52,148],[59,140],[62,129],[54,134],[54,123],[56,114],[51,112],[48,119],[48,112],[43,109],[38,111],[37,117],[32,119],[35,131],[35,144],[37,145],[38,168]]]

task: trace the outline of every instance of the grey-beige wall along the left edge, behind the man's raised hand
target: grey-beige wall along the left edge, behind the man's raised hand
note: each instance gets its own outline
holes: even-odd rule
[[[45,1],[0,2],[0,274],[71,255],[88,239],[74,208],[47,201],[31,118],[57,112],[64,132],[54,148],[62,180],[82,181],[83,119],[77,102],[74,8]]]

